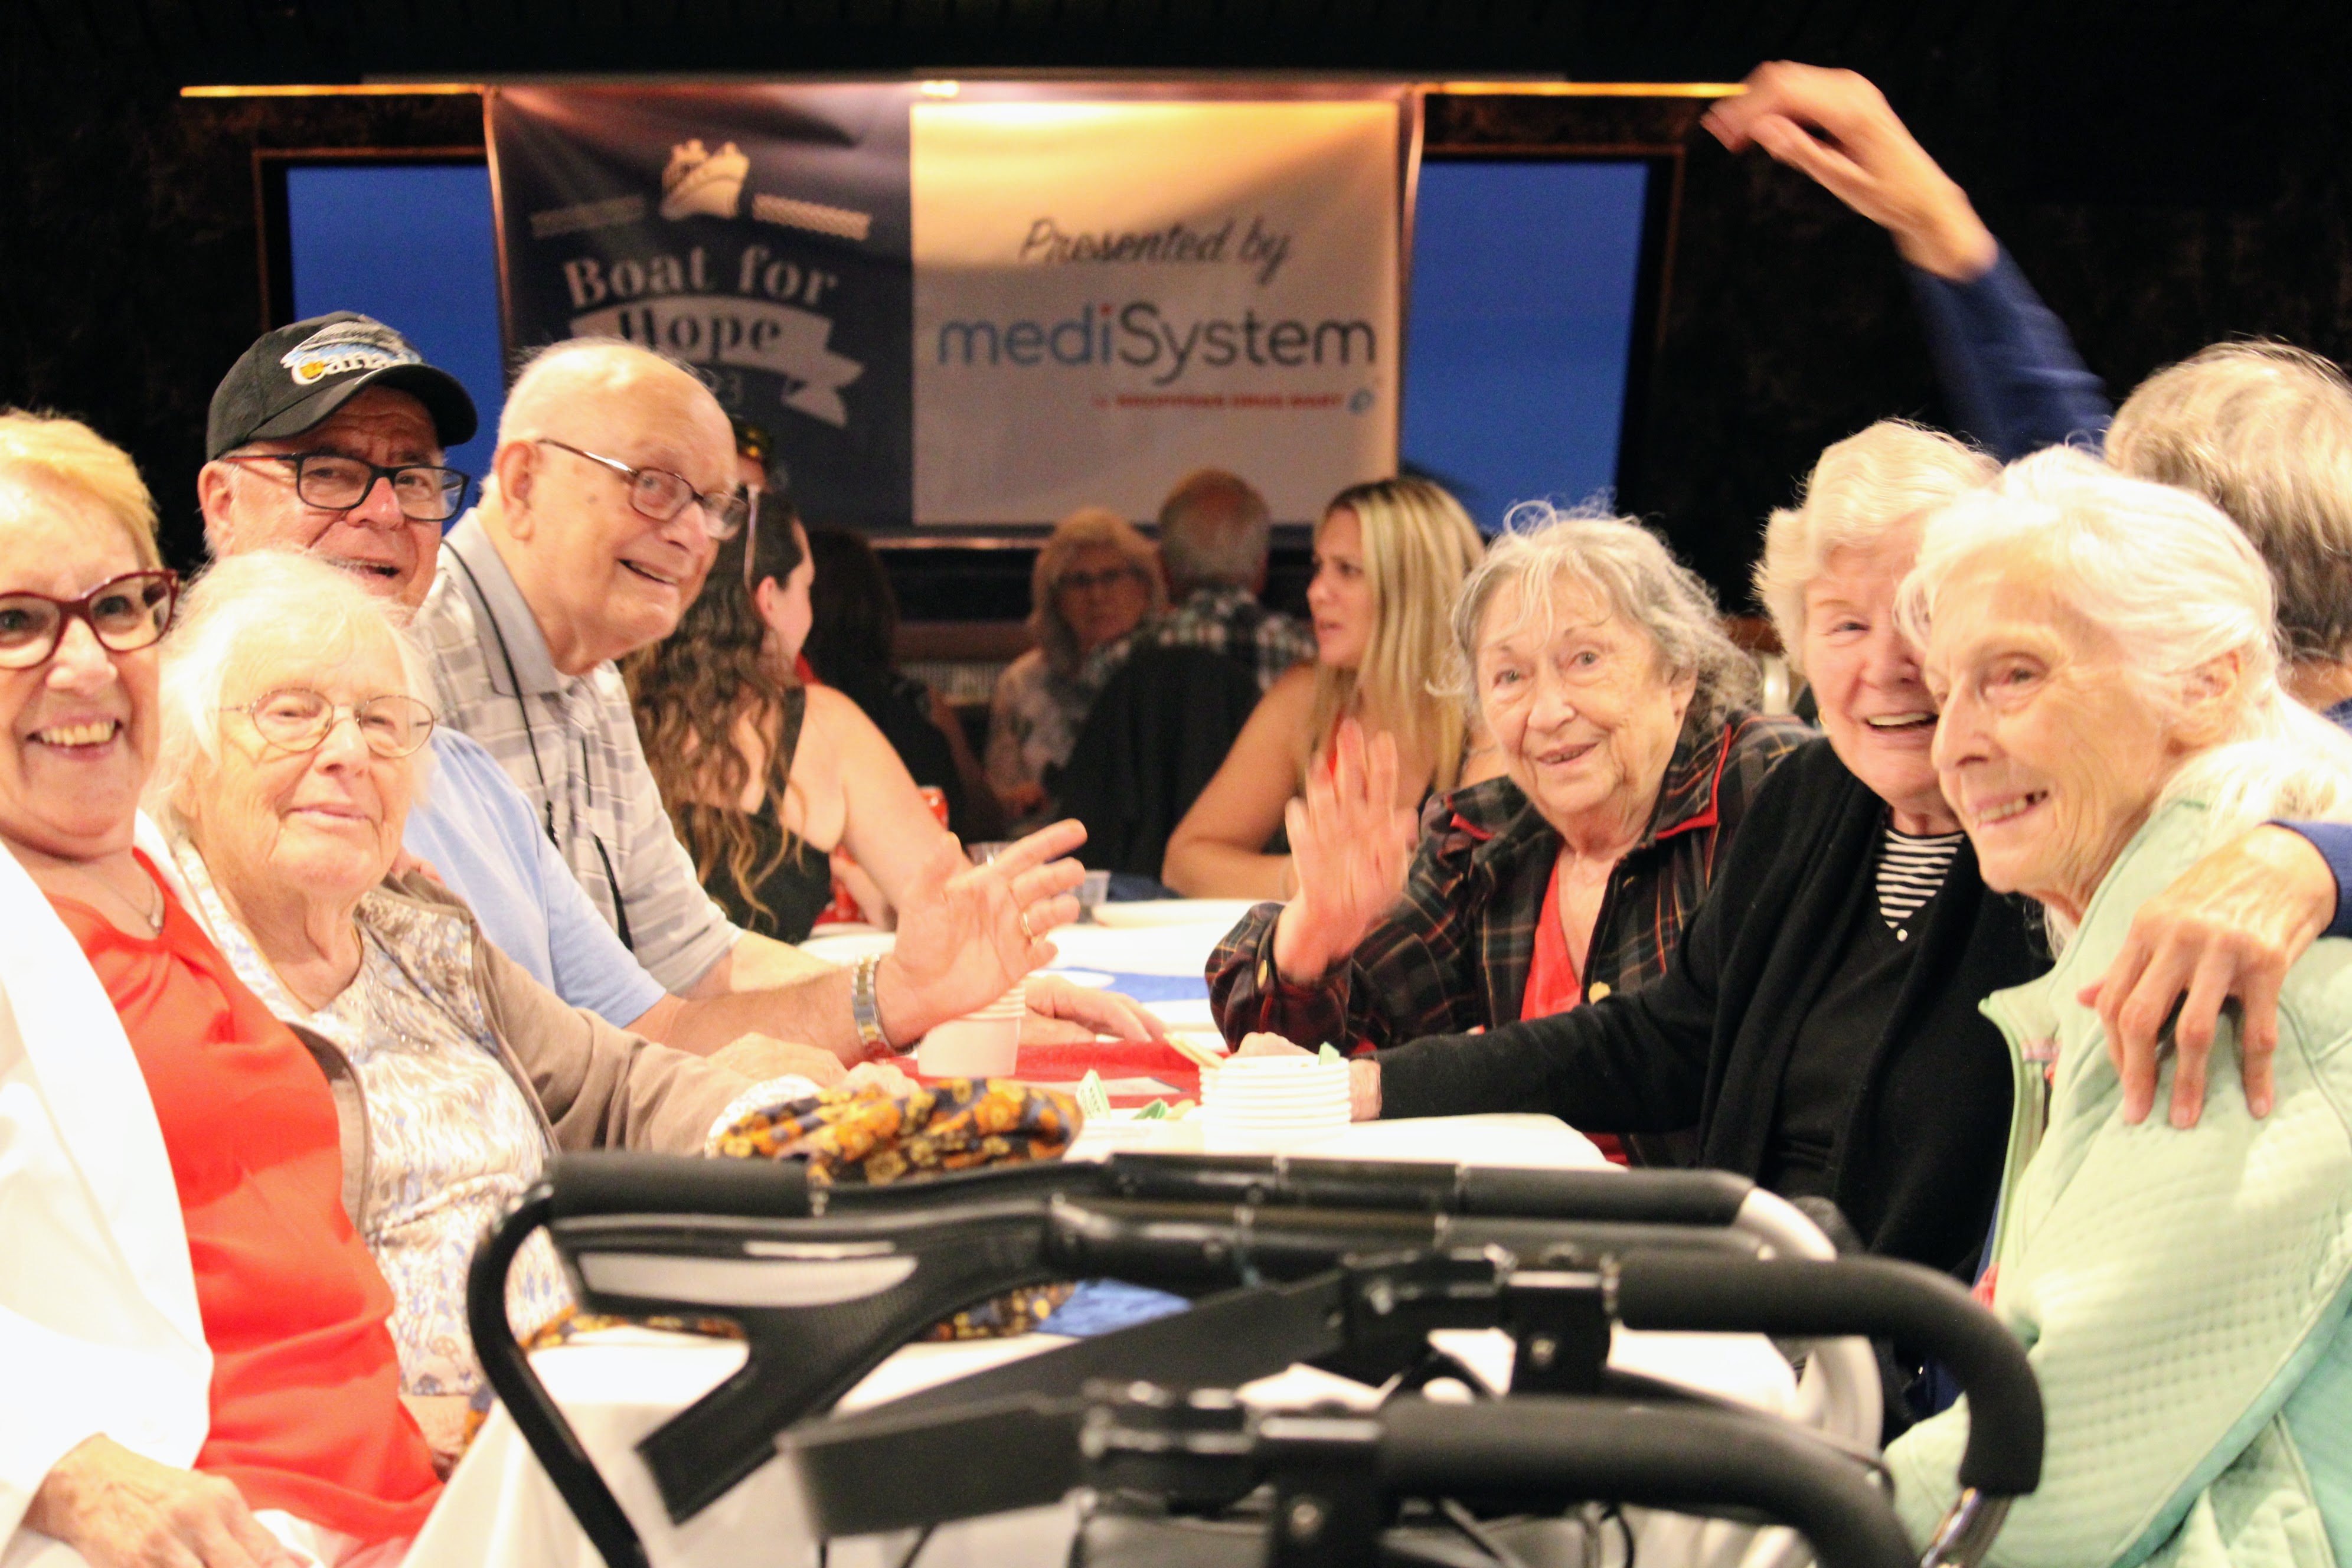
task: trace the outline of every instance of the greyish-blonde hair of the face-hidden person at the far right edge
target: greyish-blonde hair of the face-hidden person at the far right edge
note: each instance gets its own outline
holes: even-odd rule
[[[2216,343],[2114,414],[2107,461],[2218,505],[2270,562],[2293,661],[2352,651],[2352,383],[2286,343]]]

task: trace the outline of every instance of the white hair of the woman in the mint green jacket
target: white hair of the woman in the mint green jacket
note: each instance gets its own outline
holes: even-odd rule
[[[2206,844],[2274,816],[2352,816],[2352,738],[2286,696],[2270,569],[2213,503],[2053,447],[1929,520],[1896,607],[1919,644],[1938,595],[1987,557],[2032,557],[2034,585],[2122,649],[2129,689],[2164,726],[2190,719],[2211,668],[2239,679],[2218,731],[2154,806],[2206,806]]]

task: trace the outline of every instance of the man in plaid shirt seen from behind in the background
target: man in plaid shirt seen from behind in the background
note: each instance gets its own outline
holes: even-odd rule
[[[1251,672],[1258,691],[1315,658],[1315,632],[1265,609],[1265,496],[1223,468],[1200,468],[1160,503],[1160,562],[1169,611],[1087,656],[1080,682],[1101,691],[1136,649],[1214,649]]]

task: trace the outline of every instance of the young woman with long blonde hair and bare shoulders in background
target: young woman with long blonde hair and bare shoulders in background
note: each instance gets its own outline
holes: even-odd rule
[[[1289,898],[1298,877],[1265,844],[1308,769],[1329,766],[1341,719],[1397,748],[1397,804],[1463,783],[1465,719],[1430,696],[1454,595],[1484,545],[1470,515],[1416,477],[1343,489],[1315,529],[1315,663],[1277,679],[1225,766],[1169,837],[1160,879],[1188,898]]]

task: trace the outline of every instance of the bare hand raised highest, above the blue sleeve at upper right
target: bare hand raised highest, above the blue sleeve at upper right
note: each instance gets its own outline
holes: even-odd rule
[[[1969,193],[1926,155],[1867,78],[1783,59],[1750,71],[1745,85],[1703,122],[1726,148],[1759,146],[1809,174],[1893,235],[1905,261],[1938,277],[1971,282],[1999,256]]]

